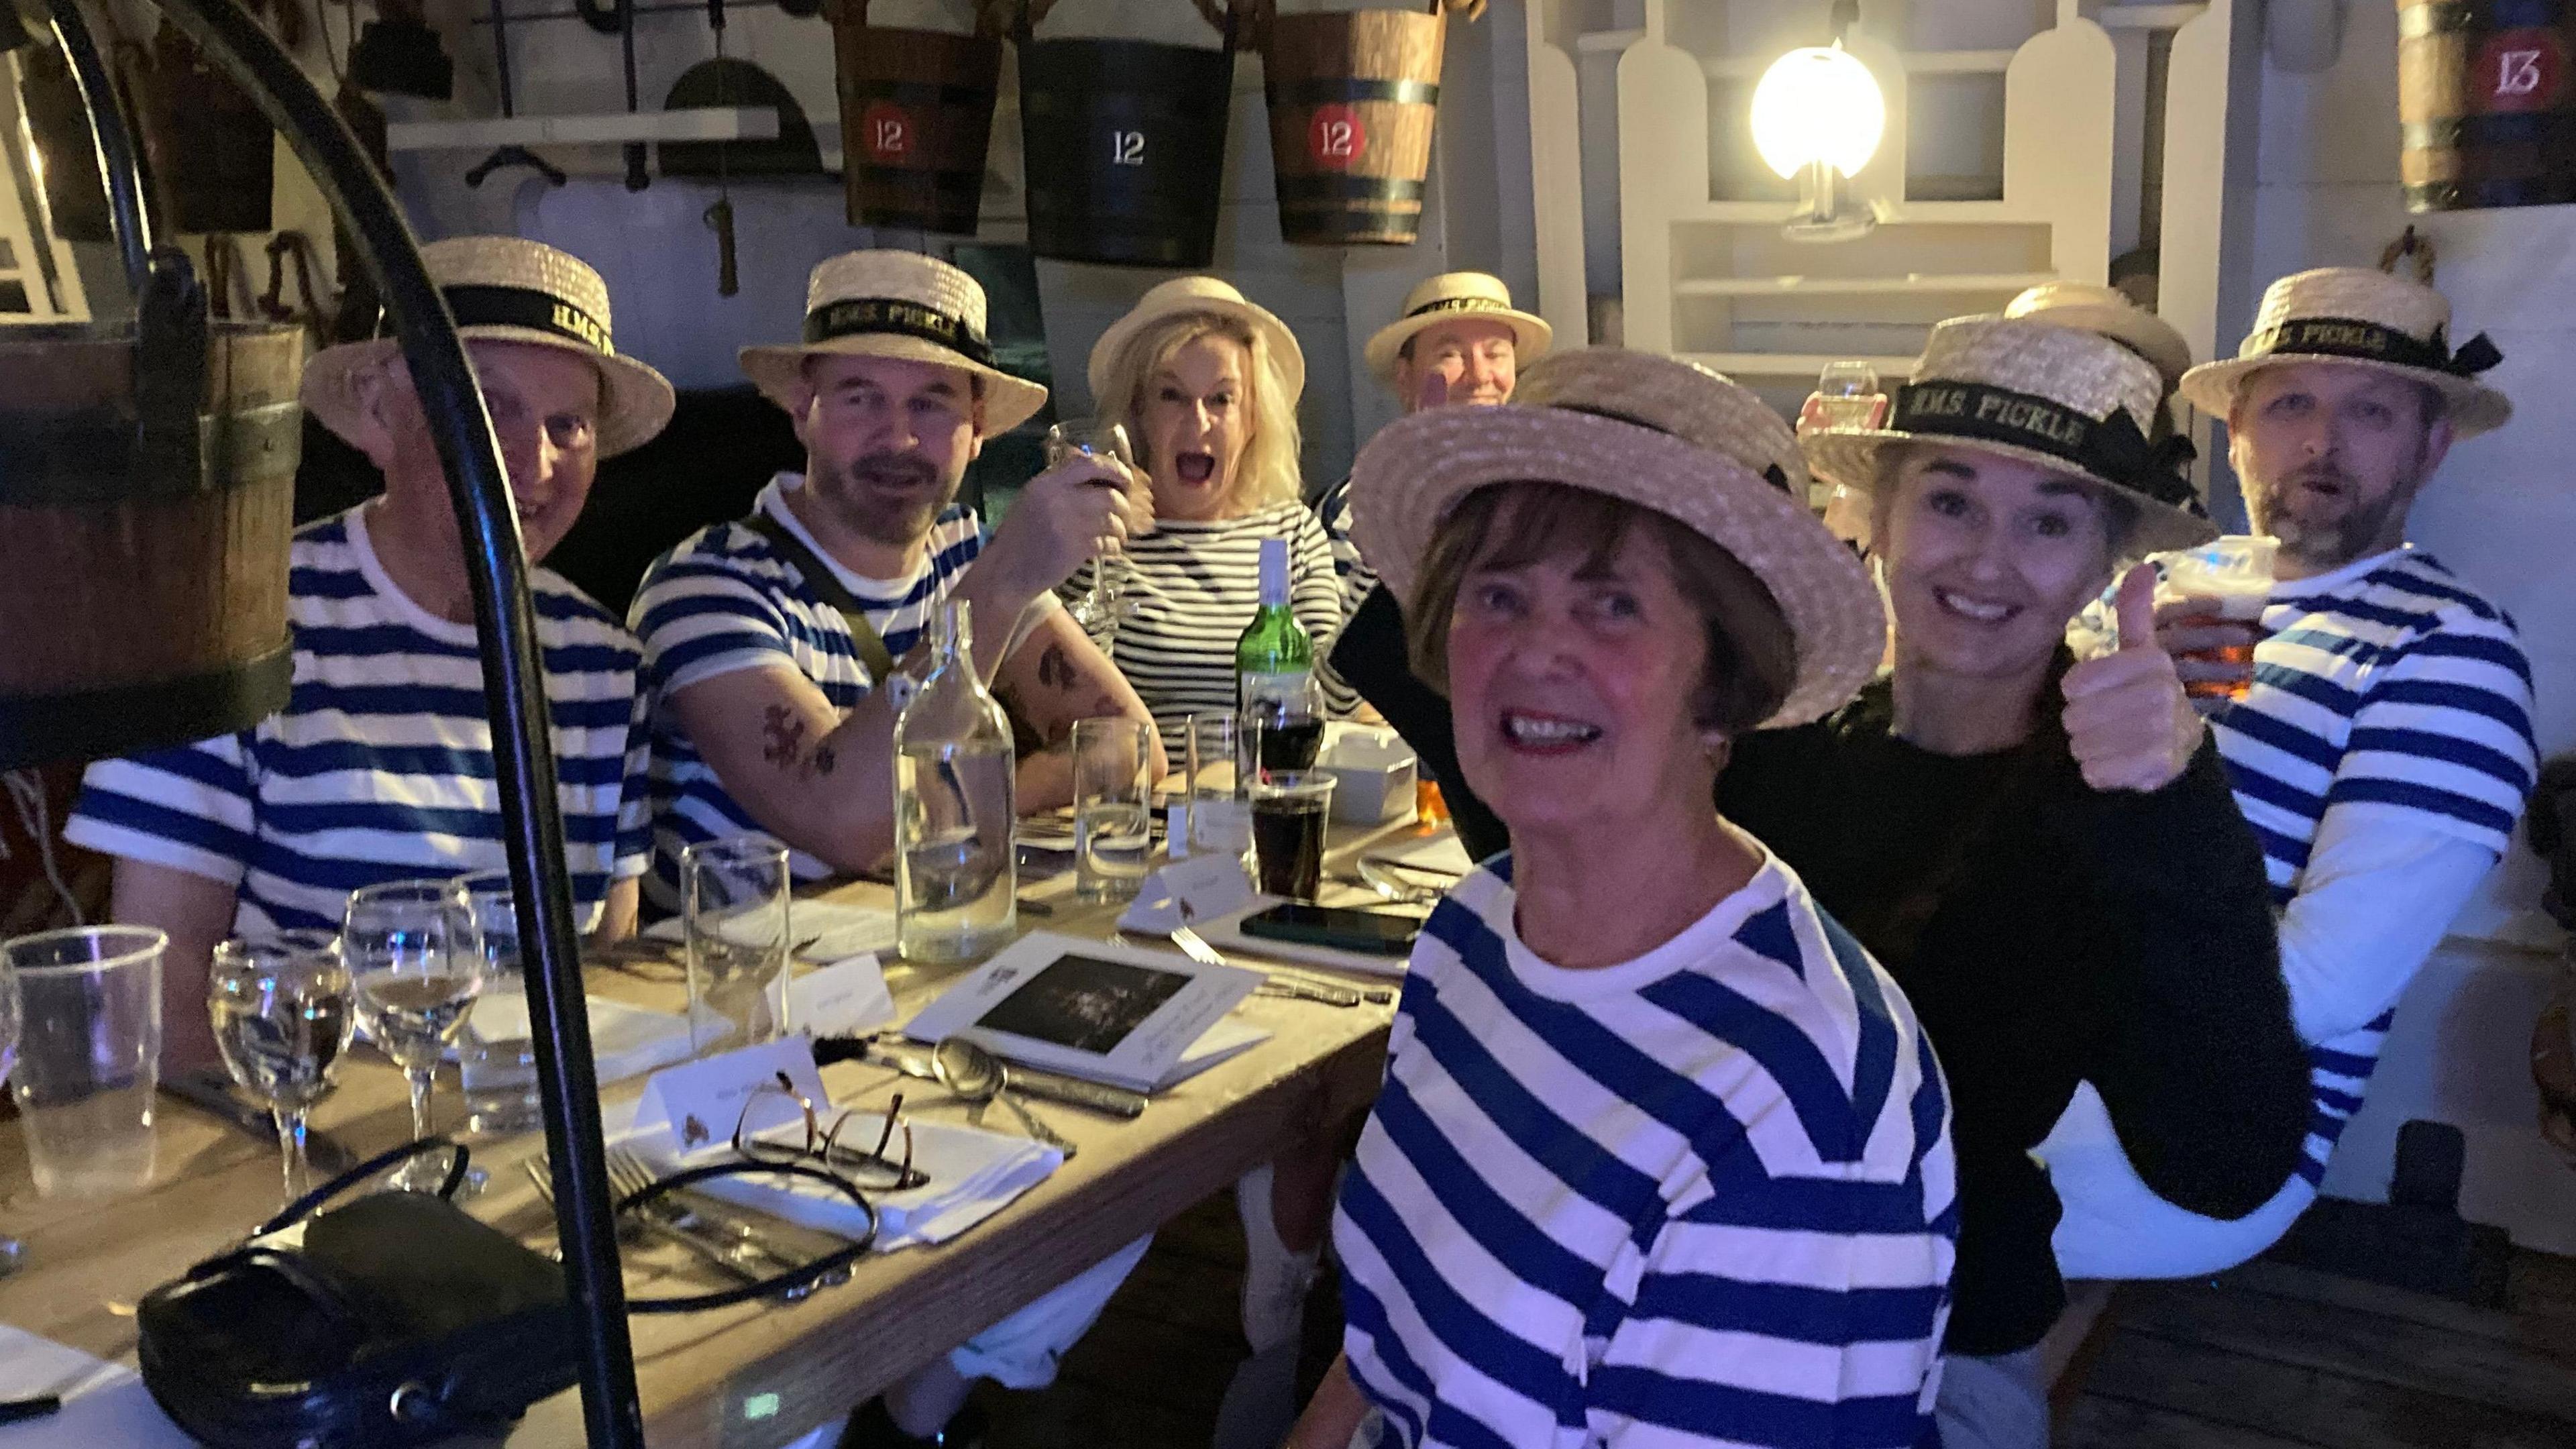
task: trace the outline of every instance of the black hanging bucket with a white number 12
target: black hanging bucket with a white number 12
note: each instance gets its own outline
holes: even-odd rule
[[[1216,260],[1234,52],[1020,41],[1028,250],[1113,266]]]

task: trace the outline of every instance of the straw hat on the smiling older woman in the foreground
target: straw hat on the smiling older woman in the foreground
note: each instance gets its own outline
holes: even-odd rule
[[[1561,482],[1698,529],[1770,588],[1798,678],[1765,727],[1806,724],[1878,670],[1888,619],[1860,557],[1806,508],[1798,441],[1759,397],[1680,358],[1556,353],[1502,407],[1399,418],[1350,469],[1350,531],[1412,606],[1440,518],[1489,482]]]

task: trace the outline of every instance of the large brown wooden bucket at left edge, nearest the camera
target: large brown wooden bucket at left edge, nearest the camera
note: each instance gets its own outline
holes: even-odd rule
[[[139,438],[131,325],[0,327],[0,768],[286,704],[301,376],[301,327],[216,322],[191,474]]]

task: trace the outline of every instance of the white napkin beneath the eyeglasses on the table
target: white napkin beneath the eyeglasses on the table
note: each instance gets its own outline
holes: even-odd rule
[[[860,1122],[853,1122],[850,1132],[858,1132]],[[680,1155],[665,1132],[639,1134],[621,1145],[641,1152],[659,1173],[724,1163],[734,1155],[729,1145],[708,1145]],[[889,1155],[902,1160],[899,1150]],[[868,1194],[878,1220],[878,1253],[914,1243],[945,1243],[966,1232],[976,1222],[1002,1212],[1015,1196],[1043,1183],[1048,1173],[1064,1165],[1064,1152],[1005,1132],[948,1122],[912,1122],[912,1165],[930,1173],[930,1181],[912,1191]],[[868,1230],[868,1217],[848,1196],[811,1178],[708,1178],[696,1183],[693,1191],[770,1212],[801,1227],[840,1232],[842,1238],[858,1238]]]

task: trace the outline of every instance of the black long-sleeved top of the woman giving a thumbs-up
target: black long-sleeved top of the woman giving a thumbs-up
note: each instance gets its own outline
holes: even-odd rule
[[[1443,781],[1468,853],[1502,851],[1383,588],[1332,657]],[[2097,792],[2053,709],[2022,748],[1965,758],[1893,737],[1891,714],[1880,681],[1832,719],[1736,740],[1718,810],[1806,879],[1929,1031],[1960,1181],[1947,1348],[2009,1354],[2066,1299],[2058,1199],[2030,1150],[2076,1083],[2102,1093],[2148,1189],[2244,1217],[2298,1163],[2306,1052],[2262,848],[2215,748],[2159,792]]]

